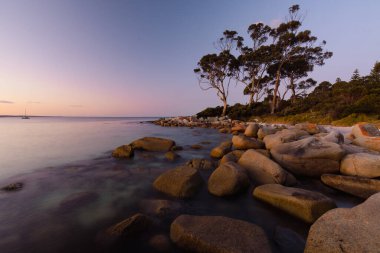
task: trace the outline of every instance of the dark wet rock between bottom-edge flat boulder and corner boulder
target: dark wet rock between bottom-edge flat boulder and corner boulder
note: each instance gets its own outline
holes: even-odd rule
[[[282,253],[303,253],[305,249],[305,240],[288,228],[277,226],[273,239]]]

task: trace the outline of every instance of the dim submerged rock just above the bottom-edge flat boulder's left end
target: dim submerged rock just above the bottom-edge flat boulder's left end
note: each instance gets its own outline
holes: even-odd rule
[[[168,217],[179,213],[182,205],[179,202],[165,199],[145,199],[139,203],[143,213],[159,217]]]

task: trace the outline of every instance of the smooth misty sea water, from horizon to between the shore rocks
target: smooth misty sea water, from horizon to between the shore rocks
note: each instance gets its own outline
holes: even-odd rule
[[[273,252],[278,227],[306,238],[305,224],[252,197],[253,185],[231,198],[212,196],[207,179],[196,197],[179,200],[157,192],[152,183],[161,173],[193,158],[210,159],[210,150],[231,138],[215,129],[161,127],[157,118],[18,117],[0,118],[0,188],[20,183],[17,191],[0,191],[0,252],[158,252],[150,242],[169,238],[175,217],[155,217],[153,225],[131,240],[109,244],[105,231],[134,215],[146,213],[149,200],[171,200],[181,213],[222,215],[245,220],[264,229]],[[183,147],[176,161],[164,153],[136,152],[130,160],[111,157],[114,148],[145,136],[170,138]],[[192,149],[198,144],[201,149]],[[304,179],[299,187],[333,197],[339,207],[360,203]],[[169,239],[168,239],[169,240]],[[170,241],[170,240],[169,240]],[[168,252],[182,252],[170,244]]]

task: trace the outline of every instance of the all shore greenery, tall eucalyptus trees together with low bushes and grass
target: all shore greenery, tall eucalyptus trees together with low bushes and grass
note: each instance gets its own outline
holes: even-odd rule
[[[223,106],[206,108],[198,117],[228,115],[265,122],[352,125],[379,123],[380,63],[367,76],[355,70],[351,80],[317,82],[308,77],[315,66],[332,57],[325,41],[301,30],[300,7],[289,8],[286,22],[276,28],[263,23],[248,28],[248,42],[226,30],[216,43],[218,53],[203,56],[194,72],[203,90],[215,89]],[[247,103],[228,105],[231,82],[244,85]],[[312,90],[314,88],[314,90]],[[311,91],[312,90],[312,91]]]

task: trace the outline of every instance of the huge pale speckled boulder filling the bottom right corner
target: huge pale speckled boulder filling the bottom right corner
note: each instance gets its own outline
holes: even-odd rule
[[[380,193],[353,208],[325,213],[310,228],[305,253],[379,252]]]

